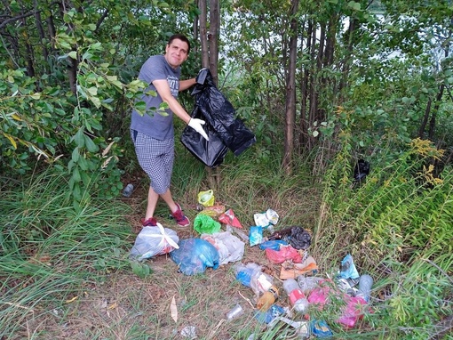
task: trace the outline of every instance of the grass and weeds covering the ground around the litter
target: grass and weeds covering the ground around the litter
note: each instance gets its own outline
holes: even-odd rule
[[[322,188],[303,160],[295,165],[298,171],[285,175],[278,152],[259,160],[251,157],[252,150],[239,158],[228,155],[210,174],[178,150],[172,191],[188,207],[195,206],[200,190],[213,189],[216,201],[233,208],[245,228],[253,225],[254,214],[274,209],[280,215],[277,229],[299,225],[312,232],[310,253],[321,275],[335,273],[343,256],[353,255],[360,273],[374,279],[372,312],[365,313],[357,329],[346,330],[333,322],[340,304],[313,311],[314,317],[329,321],[336,337],[445,336],[453,314],[451,168],[434,176],[429,164],[441,154],[415,140],[397,157],[379,154],[368,159],[366,181],[354,183],[347,134],[340,145]],[[214,181],[208,180],[210,175]],[[4,339],[59,338],[59,332],[66,332],[60,338],[179,339],[187,325],[196,326],[200,339],[246,339],[252,333],[274,339],[289,331],[257,324],[252,304],[244,303],[252,296],[229,267],[187,277],[161,256],[141,264],[147,267],[146,275],[135,275],[144,271],[128,260],[135,235],[127,221],[137,212],[120,199],[102,198],[101,192],[84,195],[74,207],[66,181],[55,169],[15,181],[2,178]],[[141,185],[146,192],[145,176]],[[145,194],[137,199],[141,214]],[[168,215],[162,203],[158,211]],[[193,221],[195,209],[186,212]],[[185,235],[196,236],[193,231]],[[263,259],[256,247],[247,247],[244,261]],[[169,314],[171,298],[179,306],[178,322]],[[101,307],[93,308],[98,300]],[[247,313],[223,322],[225,312],[237,303],[245,304]]]

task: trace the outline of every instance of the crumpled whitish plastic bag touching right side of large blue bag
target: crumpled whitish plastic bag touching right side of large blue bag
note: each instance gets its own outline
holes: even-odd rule
[[[205,239],[216,247],[219,251],[219,264],[227,264],[242,260],[245,243],[238,239],[231,232],[216,232],[213,234],[203,234],[201,239]]]

